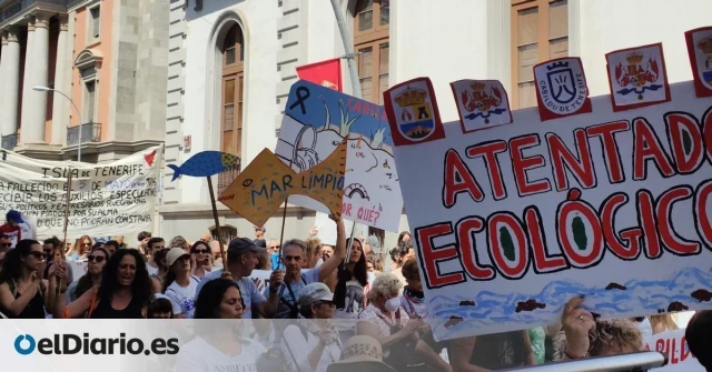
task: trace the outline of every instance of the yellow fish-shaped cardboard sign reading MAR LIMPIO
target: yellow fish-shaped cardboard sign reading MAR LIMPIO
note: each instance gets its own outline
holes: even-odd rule
[[[258,227],[293,194],[309,197],[340,215],[345,167],[346,139],[326,160],[298,174],[265,149],[218,200]]]

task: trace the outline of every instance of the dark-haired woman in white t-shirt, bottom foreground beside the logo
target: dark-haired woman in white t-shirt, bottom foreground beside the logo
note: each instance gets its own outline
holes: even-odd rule
[[[207,282],[196,302],[197,336],[180,348],[175,372],[257,371],[265,348],[238,336],[243,295],[235,281]]]

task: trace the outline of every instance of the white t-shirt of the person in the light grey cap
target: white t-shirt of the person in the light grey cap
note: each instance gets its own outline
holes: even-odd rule
[[[307,335],[305,339],[304,335]],[[319,336],[312,332],[301,332],[299,326],[289,324],[285,329],[280,341],[281,353],[287,362],[287,369],[294,372],[312,371],[309,354],[318,345]],[[325,372],[329,364],[337,362],[342,355],[338,344],[332,343],[324,348],[322,358],[315,372]]]

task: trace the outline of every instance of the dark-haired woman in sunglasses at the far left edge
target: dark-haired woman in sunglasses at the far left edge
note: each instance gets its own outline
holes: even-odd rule
[[[6,316],[44,319],[44,309],[53,294],[49,282],[42,280],[44,260],[42,245],[30,239],[21,240],[6,253],[0,272],[0,312]]]

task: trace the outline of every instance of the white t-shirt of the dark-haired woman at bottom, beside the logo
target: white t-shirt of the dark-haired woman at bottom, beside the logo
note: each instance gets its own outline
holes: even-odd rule
[[[180,348],[174,372],[256,372],[257,360],[265,348],[251,340],[241,339],[243,350],[238,355],[228,355],[196,336]]]

